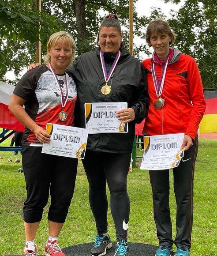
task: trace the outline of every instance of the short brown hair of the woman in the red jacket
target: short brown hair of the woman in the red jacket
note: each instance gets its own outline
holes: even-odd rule
[[[171,41],[169,42],[170,45],[175,42],[176,40],[176,34],[172,32],[169,24],[161,19],[153,20],[149,23],[147,30],[146,30],[146,43],[149,47],[151,47],[151,36],[157,35],[159,33],[165,33],[168,34],[168,36],[171,38]]]

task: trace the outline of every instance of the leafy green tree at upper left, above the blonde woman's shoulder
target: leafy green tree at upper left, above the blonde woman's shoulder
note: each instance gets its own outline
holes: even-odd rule
[[[8,70],[14,69],[18,75],[22,67],[34,61],[39,23],[43,26],[42,40],[60,28],[53,15],[35,10],[33,0],[0,0],[0,80]]]

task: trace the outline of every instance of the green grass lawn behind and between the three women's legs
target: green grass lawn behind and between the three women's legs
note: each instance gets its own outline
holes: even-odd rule
[[[7,140],[1,146],[10,145]],[[138,151],[142,154],[142,151]],[[23,173],[18,169],[21,163],[15,160],[11,151],[0,151],[0,256],[23,254],[25,241],[22,224],[22,204],[26,197]],[[21,160],[20,153],[18,158]],[[199,139],[199,152],[195,165],[194,224],[192,232],[191,256],[217,255],[217,140]],[[129,223],[129,242],[158,245],[153,221],[152,195],[148,172],[134,168],[128,175],[128,193],[131,199]],[[108,193],[109,195],[109,193]],[[173,234],[176,234],[176,203],[172,188],[171,172],[171,217]],[[45,208],[43,220],[37,232],[38,254],[43,254],[47,240],[47,215]],[[115,241],[115,229],[109,209],[109,234]],[[62,248],[93,241],[96,234],[94,218],[88,202],[86,175],[79,162],[75,194],[67,220],[60,233]],[[174,247],[175,249],[175,247]],[[135,255],[136,256],[136,255]]]

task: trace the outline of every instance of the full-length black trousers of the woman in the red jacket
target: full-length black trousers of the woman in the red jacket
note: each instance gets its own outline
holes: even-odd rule
[[[172,239],[172,222],[169,209],[169,170],[150,170],[153,193],[154,221],[160,245],[185,245],[191,248],[193,223],[193,186],[195,161],[198,153],[198,136],[193,146],[184,152],[180,165],[173,168],[173,187],[176,197],[176,237]]]

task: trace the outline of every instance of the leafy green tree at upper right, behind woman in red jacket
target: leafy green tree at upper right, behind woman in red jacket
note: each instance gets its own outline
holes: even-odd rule
[[[180,0],[165,0],[165,3]],[[186,0],[168,20],[176,45],[195,58],[206,88],[217,88],[217,0]]]

